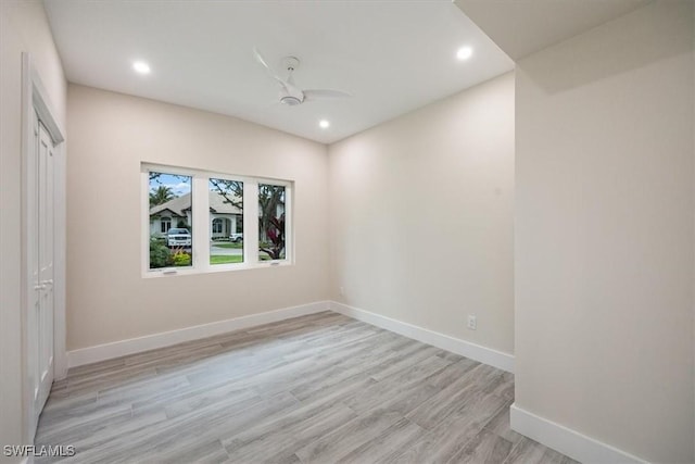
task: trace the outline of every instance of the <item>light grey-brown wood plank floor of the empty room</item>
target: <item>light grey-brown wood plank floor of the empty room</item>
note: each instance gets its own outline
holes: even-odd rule
[[[572,463],[509,429],[514,377],[330,312],[70,371],[61,462]],[[37,460],[49,462],[49,460]]]

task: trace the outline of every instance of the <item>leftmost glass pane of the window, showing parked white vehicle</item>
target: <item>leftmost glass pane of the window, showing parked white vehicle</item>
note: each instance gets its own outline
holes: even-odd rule
[[[190,267],[193,263],[192,179],[187,175],[148,172],[150,269]],[[177,220],[175,228],[168,214]]]

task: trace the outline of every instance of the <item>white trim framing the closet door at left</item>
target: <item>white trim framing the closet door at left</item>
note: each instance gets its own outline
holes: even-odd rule
[[[28,160],[34,149],[34,112],[36,112],[48,129],[55,143],[54,149],[54,179],[55,190],[53,198],[54,208],[54,318],[53,318],[53,363],[54,379],[64,378],[67,375],[67,356],[65,348],[65,250],[66,250],[66,214],[65,214],[65,130],[61,127],[55,111],[37,68],[34,66],[31,55],[22,53],[22,389],[24,430],[27,441],[34,442],[36,434],[36,421],[33,401],[28,365],[28,324],[27,312],[29,310],[30,281],[28,276]]]

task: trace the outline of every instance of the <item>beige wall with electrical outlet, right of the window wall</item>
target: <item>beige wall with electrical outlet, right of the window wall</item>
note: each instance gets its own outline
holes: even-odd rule
[[[332,298],[511,353],[514,74],[329,153]]]

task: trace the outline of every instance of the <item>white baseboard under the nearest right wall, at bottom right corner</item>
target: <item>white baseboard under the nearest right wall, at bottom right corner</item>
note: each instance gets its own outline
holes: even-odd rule
[[[511,429],[577,461],[592,464],[645,464],[647,461],[586,437],[564,425],[536,416],[515,404],[509,409]]]

